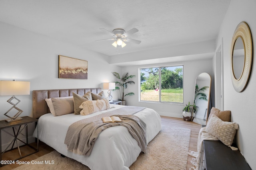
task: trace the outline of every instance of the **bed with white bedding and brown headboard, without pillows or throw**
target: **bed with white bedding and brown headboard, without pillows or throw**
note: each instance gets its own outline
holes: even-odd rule
[[[70,152],[67,150],[67,145],[64,144],[68,127],[72,123],[125,106],[110,104],[110,109],[90,115],[74,115],[74,113],[70,113],[54,116],[50,113],[45,101],[47,98],[73,96],[73,92],[83,96],[87,92],[98,94],[101,91],[101,88],[34,90],[33,117],[39,118],[38,138],[60,154],[81,162],[91,170],[128,170],[129,166],[136,161],[141,149],[126,127],[115,126],[102,131],[94,143],[90,156]],[[143,109],[134,115],[146,123],[146,143],[148,144],[161,130],[160,116],[156,111],[149,108]],[[36,132],[34,132],[33,136],[36,136]]]

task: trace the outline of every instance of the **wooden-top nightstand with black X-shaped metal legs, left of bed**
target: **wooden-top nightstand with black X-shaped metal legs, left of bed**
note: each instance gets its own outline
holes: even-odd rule
[[[35,118],[32,118],[32,117],[29,117],[29,116],[24,116],[22,117],[22,120],[18,120],[18,121],[13,121],[13,122],[6,122],[5,120],[2,120],[0,121],[0,160],[2,160],[2,155],[9,151],[7,150],[11,145],[12,145],[12,148],[10,150],[13,150],[14,148],[14,144],[17,144],[18,141],[21,142],[21,143],[24,143],[24,145],[21,145],[19,146],[18,145],[18,151],[19,151],[19,154],[20,154],[20,157],[15,159],[14,161],[18,160],[18,159],[21,159],[21,158],[24,158],[26,156],[29,156],[31,154],[34,154],[36,152],[38,152],[38,149],[39,149],[39,139],[38,139],[38,133],[37,133],[37,148],[34,148],[32,147],[30,144],[28,144],[28,124],[29,123],[38,123],[38,119],[35,119]],[[21,127],[22,125],[24,125],[24,127]],[[6,128],[10,128],[12,127],[12,131],[13,131],[13,134],[12,133],[9,133],[8,131],[6,131],[5,129]],[[15,132],[14,130],[14,127],[18,127],[18,131]],[[22,141],[22,139],[19,139],[18,138],[18,135],[24,130],[26,129],[26,142]],[[4,151],[2,151],[2,131],[4,131],[6,134],[12,136],[14,139],[10,142],[10,144],[8,145],[8,147],[6,147],[6,149]],[[24,140],[24,139],[23,139]],[[22,156],[21,152],[20,152],[20,147],[23,147],[23,146],[29,146],[30,148],[32,148],[34,150],[34,152],[32,153],[29,153],[29,154],[26,154],[24,156]],[[2,164],[2,161],[1,161],[1,164],[0,166],[4,166],[5,164]]]

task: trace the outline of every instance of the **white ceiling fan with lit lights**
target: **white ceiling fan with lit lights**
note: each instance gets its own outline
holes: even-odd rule
[[[135,44],[140,44],[141,43],[141,41],[139,41],[139,40],[127,38],[128,36],[130,36],[130,35],[139,31],[136,28],[132,28],[129,31],[124,31],[124,29],[120,29],[120,28],[114,29],[113,31],[108,31],[105,28],[100,28],[100,30],[105,31],[107,33],[110,33],[112,35],[112,37],[114,37],[114,38],[101,39],[101,40],[97,40],[97,41],[115,40],[114,43],[112,43],[112,45],[114,47],[121,46],[123,48],[123,47],[126,46],[126,43],[124,43],[124,42],[131,42],[131,43],[135,43]]]

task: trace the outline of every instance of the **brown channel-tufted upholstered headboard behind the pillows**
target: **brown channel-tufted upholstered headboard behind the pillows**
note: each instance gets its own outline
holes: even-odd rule
[[[34,90],[33,91],[33,117],[49,113],[45,99],[73,96],[73,92],[83,96],[86,92],[100,93],[101,88],[78,88],[78,89],[56,89],[56,90]]]

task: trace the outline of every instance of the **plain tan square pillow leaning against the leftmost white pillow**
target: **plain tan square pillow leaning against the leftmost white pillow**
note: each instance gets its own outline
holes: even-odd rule
[[[66,98],[66,99],[52,98],[52,104],[55,110],[55,116],[74,113],[73,98]]]

